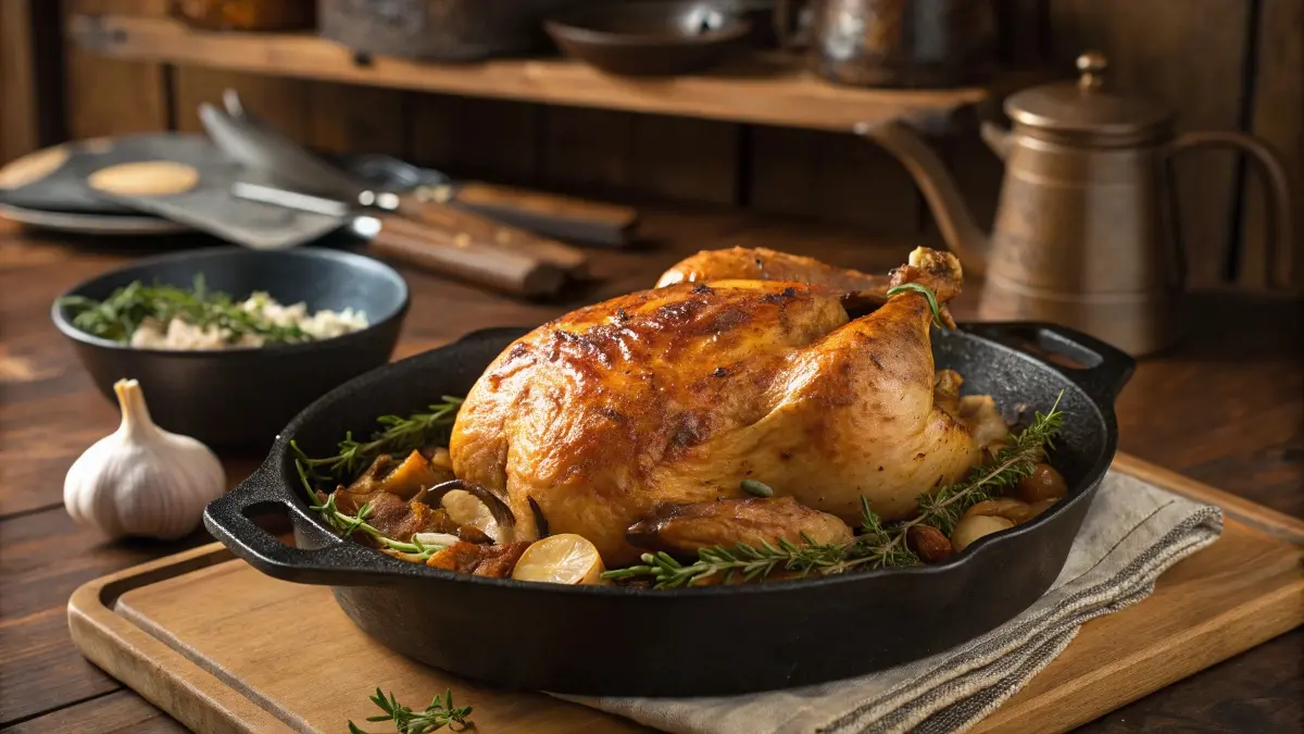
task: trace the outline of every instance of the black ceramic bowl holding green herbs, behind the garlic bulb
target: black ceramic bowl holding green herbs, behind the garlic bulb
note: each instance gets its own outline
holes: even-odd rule
[[[369,327],[297,345],[224,351],[132,349],[77,329],[59,300],[51,316],[104,397],[123,377],[141,381],[154,421],[210,447],[265,451],[276,432],[313,400],[385,364],[408,308],[408,289],[390,266],[348,252],[297,248],[258,252],[223,247],[140,260],[86,281],[64,295],[103,300],[132,281],[189,287],[203,273],[213,290],[237,299],[266,291],[309,312],[346,307]],[[63,296],[60,296],[63,298]]]

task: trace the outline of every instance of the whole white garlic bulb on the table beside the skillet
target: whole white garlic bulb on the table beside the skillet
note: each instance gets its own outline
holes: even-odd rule
[[[226,491],[222,462],[202,443],[155,426],[136,380],[119,380],[113,392],[123,424],[68,470],[68,515],[111,538],[190,534],[203,507]]]

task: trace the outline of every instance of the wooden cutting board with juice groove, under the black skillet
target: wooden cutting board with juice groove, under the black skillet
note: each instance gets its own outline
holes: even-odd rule
[[[1086,623],[975,731],[1063,731],[1304,623],[1304,522],[1129,456],[1114,468],[1221,505],[1223,537],[1149,599]],[[451,687],[485,733],[642,730],[412,662],[353,627],[330,589],[263,576],[218,543],[91,581],[68,618],[87,658],[196,731],[344,731],[376,713],[377,686],[413,708]]]

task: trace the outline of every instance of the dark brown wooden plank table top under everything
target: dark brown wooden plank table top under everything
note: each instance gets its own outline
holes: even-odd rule
[[[536,324],[578,304],[647,287],[703,248],[765,246],[883,270],[906,244],[814,230],[735,212],[648,212],[649,243],[595,253],[604,279],[566,303],[529,304],[407,272],[412,310],[398,357],[468,330]],[[76,282],[162,247],[130,247],[0,223],[0,729],[10,731],[183,731],[167,714],[82,660],[65,605],[82,582],[207,542],[106,543],[74,528],[63,507],[72,461],[117,424],[72,347],[50,323],[52,299]],[[971,289],[973,290],[973,289]],[[964,317],[973,294],[962,296]],[[1118,401],[1123,451],[1282,512],[1304,516],[1301,304],[1194,294],[1183,343],[1138,367]],[[224,457],[231,479],[254,457]],[[1296,630],[1146,696],[1090,731],[1296,731],[1304,721],[1304,630]],[[12,727],[12,729],[10,729]]]

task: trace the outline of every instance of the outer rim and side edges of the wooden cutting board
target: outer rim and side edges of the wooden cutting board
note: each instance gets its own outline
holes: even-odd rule
[[[1304,521],[1189,479],[1134,456],[1119,453],[1114,469],[1200,502],[1221,505],[1237,522],[1304,549]],[[293,731],[249,697],[209,673],[163,640],[112,609],[123,593],[231,559],[222,543],[210,543],[103,576],[80,586],[68,603],[74,645],[91,662],[193,730],[219,734]],[[1144,603],[1144,602],[1142,602]],[[1017,709],[998,709],[977,725],[979,733],[1063,731],[1103,716],[1193,675],[1240,652],[1304,624],[1304,577],[1271,594],[1239,605],[1166,640],[1111,661],[1080,684],[1060,687]],[[1184,654],[1174,654],[1176,650]],[[1140,684],[1116,688],[1120,670]],[[160,670],[168,670],[159,677]],[[1091,713],[1064,705],[1065,696],[1093,701]],[[1013,721],[1016,720],[1017,721]],[[1038,722],[1035,730],[1028,722]]]

